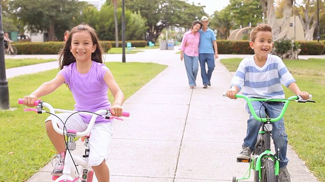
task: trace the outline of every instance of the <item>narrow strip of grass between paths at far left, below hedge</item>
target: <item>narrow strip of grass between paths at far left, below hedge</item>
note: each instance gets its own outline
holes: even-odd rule
[[[55,59],[6,59],[6,69],[55,61]]]

